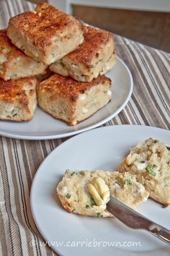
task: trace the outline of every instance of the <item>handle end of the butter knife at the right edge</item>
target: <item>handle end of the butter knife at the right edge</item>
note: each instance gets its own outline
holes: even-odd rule
[[[170,244],[170,231],[169,229],[159,226],[156,223],[151,224],[149,227],[151,234],[157,236],[159,239],[163,240],[167,244]]]

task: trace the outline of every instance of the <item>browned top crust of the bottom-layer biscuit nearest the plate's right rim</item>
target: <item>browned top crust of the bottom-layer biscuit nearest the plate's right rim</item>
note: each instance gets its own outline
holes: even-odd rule
[[[59,74],[53,74],[48,80],[40,82],[38,90],[42,93],[50,93],[50,97],[53,100],[61,96],[62,98],[68,98],[70,101],[76,101],[80,93],[86,93],[91,87],[101,84],[105,85],[106,83],[111,86],[111,80],[104,75],[99,75],[97,79],[91,82],[78,82],[71,77],[62,77]]]

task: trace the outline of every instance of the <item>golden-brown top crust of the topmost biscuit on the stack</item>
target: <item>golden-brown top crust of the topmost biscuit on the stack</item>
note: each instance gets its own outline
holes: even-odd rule
[[[42,51],[53,43],[55,35],[63,38],[73,25],[81,28],[79,20],[47,3],[37,5],[35,12],[23,12],[12,17],[9,24]]]

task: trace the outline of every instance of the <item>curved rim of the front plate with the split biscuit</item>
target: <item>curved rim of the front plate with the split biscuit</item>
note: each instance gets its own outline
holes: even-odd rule
[[[147,126],[147,125],[138,125],[138,124],[117,124],[115,126],[107,126],[107,127],[97,127],[96,129],[97,130],[103,130],[103,129],[114,129],[116,127],[116,129],[119,129],[119,127],[140,127],[140,128],[144,128],[144,129],[156,129],[156,130],[160,130],[160,131],[164,131],[164,132],[169,132],[170,131],[168,129],[164,129],[164,128],[160,128],[160,127],[151,127],[151,126]],[[58,145],[58,147],[54,148],[50,154],[48,154],[45,159],[42,161],[42,163],[40,163],[40,166],[37,168],[37,171],[35,172],[35,176],[32,180],[32,185],[31,185],[31,189],[30,189],[30,208],[31,208],[31,213],[32,213],[32,217],[33,217],[33,221],[35,222],[35,226],[37,228],[38,231],[40,231],[40,234],[42,236],[42,238],[45,240],[45,241],[48,241],[48,237],[44,234],[44,232],[42,231],[40,225],[37,223],[37,218],[35,217],[35,211],[33,210],[33,189],[34,189],[34,186],[35,186],[35,180],[37,179],[37,175],[38,175],[38,172],[40,171],[40,168],[42,167],[42,165],[44,164],[45,161],[48,160],[48,158],[51,157],[51,155],[55,154],[56,151],[58,150],[61,150],[61,148],[63,146],[65,146],[65,144],[68,143],[68,141],[73,141],[73,140],[78,140],[79,137],[83,137],[85,134],[89,134],[89,133],[93,133],[96,129],[90,129],[86,132],[82,132],[81,134],[78,134],[74,137],[71,137],[69,138],[68,140],[66,140],[65,142],[61,143],[61,145]],[[53,245],[50,245],[50,247],[53,249],[54,252],[56,252],[57,254],[61,255],[61,252],[60,252],[60,249],[58,247],[58,249],[55,249],[55,247]],[[134,253],[140,253],[140,251],[136,251]],[[149,251],[150,252],[150,251]],[[152,252],[152,251],[151,251]],[[155,251],[153,251],[155,252]],[[130,252],[131,253],[131,252]],[[141,252],[141,253],[145,253],[145,252]],[[129,255],[129,254],[128,254]],[[135,255],[133,254],[132,252],[132,255]]]

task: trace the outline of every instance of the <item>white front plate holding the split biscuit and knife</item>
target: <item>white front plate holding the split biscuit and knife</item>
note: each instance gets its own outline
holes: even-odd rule
[[[146,231],[129,229],[116,218],[91,218],[67,213],[55,192],[66,168],[115,170],[129,148],[148,137],[170,145],[169,131],[164,129],[129,125],[102,127],[67,140],[43,161],[32,183],[31,208],[37,229],[55,252],[70,256],[135,256],[136,252],[148,256],[169,255],[169,247],[164,242]],[[170,208],[162,208],[148,200],[138,207],[138,211],[170,229]],[[103,244],[90,247],[90,242],[97,241]],[[117,246],[106,246],[107,242],[117,242]],[[132,245],[133,242],[137,243],[136,246]]]

